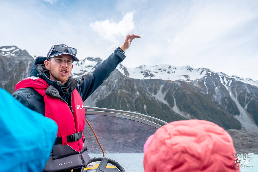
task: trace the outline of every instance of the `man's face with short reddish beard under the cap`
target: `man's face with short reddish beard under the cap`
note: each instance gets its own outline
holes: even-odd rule
[[[68,54],[62,54],[56,57],[51,57],[49,61],[45,60],[45,67],[49,70],[50,79],[54,81],[61,81],[64,85],[71,75],[72,57]]]

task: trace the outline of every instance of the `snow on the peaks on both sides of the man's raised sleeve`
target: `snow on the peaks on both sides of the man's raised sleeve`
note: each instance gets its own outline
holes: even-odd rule
[[[79,77],[88,72],[92,72],[96,66],[103,60],[100,58],[87,57],[74,64],[73,76]],[[119,64],[117,66],[118,71],[123,75],[134,79],[162,79],[162,80],[183,80],[191,82],[199,80],[207,75],[219,75],[221,83],[227,88],[227,84],[230,86],[232,79],[240,81],[246,84],[250,84],[258,87],[258,81],[254,81],[250,78],[240,78],[235,75],[228,76],[225,73],[216,73],[207,68],[194,69],[190,66],[172,66],[168,64],[160,64],[155,66],[141,65],[135,68],[126,68],[124,65]]]

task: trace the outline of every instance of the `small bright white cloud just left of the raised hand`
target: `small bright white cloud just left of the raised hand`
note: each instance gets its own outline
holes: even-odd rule
[[[125,36],[134,29],[133,15],[134,11],[126,13],[123,19],[118,23],[108,19],[105,21],[95,21],[95,23],[90,23],[90,27],[93,28],[95,32],[98,32],[104,39],[111,41],[113,44],[117,44],[118,36]]]

